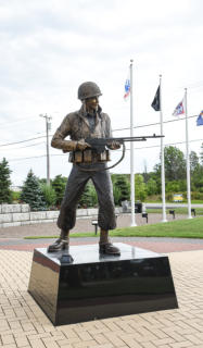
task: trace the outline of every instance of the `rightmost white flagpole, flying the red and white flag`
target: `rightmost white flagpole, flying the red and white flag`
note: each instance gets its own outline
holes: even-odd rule
[[[190,153],[189,153],[189,134],[188,134],[188,101],[187,88],[185,88],[185,109],[186,109],[186,159],[187,159],[187,199],[188,199],[188,219],[191,215],[191,191],[190,191]]]

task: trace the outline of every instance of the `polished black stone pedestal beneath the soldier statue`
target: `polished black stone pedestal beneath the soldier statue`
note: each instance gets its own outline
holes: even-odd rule
[[[98,245],[62,252],[35,249],[28,291],[54,325],[178,307],[168,258],[115,244],[120,257],[99,254]]]

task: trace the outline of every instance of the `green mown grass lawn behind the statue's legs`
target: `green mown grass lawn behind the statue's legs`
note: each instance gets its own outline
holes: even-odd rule
[[[167,223],[157,223],[136,227],[116,228],[110,232],[112,237],[173,237],[173,238],[203,238],[203,217],[175,220]],[[94,237],[94,233],[74,233],[71,237]],[[25,237],[26,239],[58,238]]]

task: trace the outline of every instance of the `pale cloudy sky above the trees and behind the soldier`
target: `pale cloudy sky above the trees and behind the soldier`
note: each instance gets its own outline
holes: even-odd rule
[[[51,139],[64,116],[80,108],[77,90],[86,80],[102,90],[100,105],[111,117],[114,137],[129,136],[124,86],[130,60],[134,135],[160,134],[160,112],[151,103],[162,75],[164,144],[186,152],[185,120],[173,111],[187,88],[189,148],[200,156],[202,13],[201,0],[0,0],[0,160],[9,161],[12,185],[21,186],[30,169],[47,176],[40,114],[52,117]],[[113,173],[130,173],[128,149],[129,144]],[[113,151],[111,164],[120,154]],[[136,173],[152,171],[158,162],[160,139],[135,144]],[[68,176],[71,169],[67,154],[50,148],[51,178]]]

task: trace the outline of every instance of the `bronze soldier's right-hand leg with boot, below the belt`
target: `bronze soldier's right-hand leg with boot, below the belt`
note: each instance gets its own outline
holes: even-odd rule
[[[113,185],[109,171],[94,172],[92,182],[99,201],[98,224],[101,228],[99,241],[100,253],[120,254],[119,249],[116,248],[109,238],[109,229],[114,229],[116,227]]]

